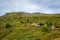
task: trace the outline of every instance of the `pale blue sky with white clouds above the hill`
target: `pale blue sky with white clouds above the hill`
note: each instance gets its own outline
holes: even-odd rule
[[[0,15],[20,11],[60,13],[60,0],[0,0]]]

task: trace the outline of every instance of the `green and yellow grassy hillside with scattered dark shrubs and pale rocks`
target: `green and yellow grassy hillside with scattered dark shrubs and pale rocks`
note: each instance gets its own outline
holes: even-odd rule
[[[59,40],[60,14],[11,12],[0,16],[0,40]]]

